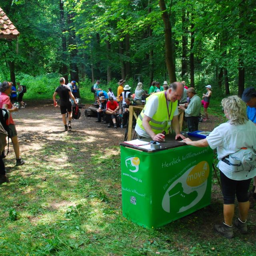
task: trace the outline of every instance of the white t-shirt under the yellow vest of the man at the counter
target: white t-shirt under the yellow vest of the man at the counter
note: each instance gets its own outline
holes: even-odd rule
[[[169,104],[170,104],[170,101],[168,101],[168,107],[169,107]],[[154,114],[156,113],[157,108],[158,108],[158,96],[151,96],[150,99],[147,101],[146,110],[144,112],[144,115],[152,118],[154,116]],[[179,112],[178,112],[178,106],[177,106],[176,110],[174,111],[173,116],[178,116],[178,114],[179,114]],[[148,133],[144,129],[140,128],[140,126],[138,126],[138,124],[136,124],[136,126],[135,126],[135,131],[140,136],[150,138]]]

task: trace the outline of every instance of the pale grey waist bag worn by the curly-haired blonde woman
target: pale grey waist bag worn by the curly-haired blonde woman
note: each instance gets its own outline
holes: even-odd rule
[[[253,148],[240,148],[229,156],[222,159],[230,165],[233,172],[248,171],[256,168],[256,154]]]

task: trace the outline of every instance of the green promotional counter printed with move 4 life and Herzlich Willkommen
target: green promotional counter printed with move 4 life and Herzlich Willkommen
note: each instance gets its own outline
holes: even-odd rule
[[[120,143],[125,218],[156,228],[210,204],[210,147],[188,146],[168,136],[157,150],[127,143]]]

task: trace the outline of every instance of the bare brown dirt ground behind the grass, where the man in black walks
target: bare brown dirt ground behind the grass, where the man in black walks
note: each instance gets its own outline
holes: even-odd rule
[[[87,106],[86,106],[87,107]],[[96,118],[85,117],[85,108],[81,109],[79,120],[72,121],[72,136],[76,134],[90,136],[90,142],[95,146],[115,145],[124,140],[125,129],[107,128],[106,124],[96,123]],[[68,132],[64,132],[64,126],[60,115],[60,109],[54,108],[52,100],[28,102],[25,109],[13,114],[14,122],[20,141],[21,155],[29,157],[31,152],[42,148],[45,142],[62,140]],[[211,116],[212,122],[199,123],[199,129],[208,131],[217,126],[219,120]],[[70,132],[69,132],[70,133]],[[10,156],[14,157],[12,145]]]

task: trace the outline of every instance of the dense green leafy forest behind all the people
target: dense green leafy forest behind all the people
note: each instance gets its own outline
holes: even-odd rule
[[[20,32],[0,39],[1,81],[25,79],[30,88],[64,76],[90,86],[139,76],[146,86],[185,80],[238,95],[256,82],[254,0],[2,0],[0,7]],[[38,76],[46,77],[33,83]]]

